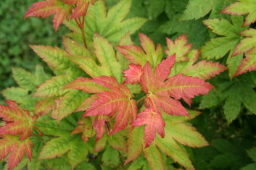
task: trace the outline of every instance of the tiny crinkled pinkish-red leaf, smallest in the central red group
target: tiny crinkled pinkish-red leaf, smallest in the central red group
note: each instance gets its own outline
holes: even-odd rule
[[[143,69],[141,65],[130,64],[129,69],[123,71],[123,73],[125,74],[123,77],[126,78],[123,84],[135,84],[137,82],[140,82],[142,70]]]

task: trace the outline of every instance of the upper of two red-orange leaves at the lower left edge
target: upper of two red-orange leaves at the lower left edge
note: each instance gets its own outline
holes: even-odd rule
[[[0,133],[20,135],[20,140],[25,140],[33,132],[36,117],[30,116],[29,111],[21,109],[15,101],[6,103],[9,106],[0,105],[0,117],[6,122],[6,125],[0,128]]]

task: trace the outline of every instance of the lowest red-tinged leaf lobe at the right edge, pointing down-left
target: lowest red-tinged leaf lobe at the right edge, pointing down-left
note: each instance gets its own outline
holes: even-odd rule
[[[251,51],[245,54],[245,58],[241,60],[241,64],[234,76],[241,75],[245,72],[250,72],[256,69],[256,48],[252,48]]]

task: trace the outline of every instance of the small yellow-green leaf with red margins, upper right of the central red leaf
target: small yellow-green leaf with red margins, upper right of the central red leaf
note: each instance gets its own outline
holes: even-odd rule
[[[176,54],[177,62],[188,60],[185,55],[189,53],[192,44],[188,43],[188,39],[185,34],[179,36],[174,42],[169,38],[166,38],[166,42],[168,49],[165,50],[165,53],[168,54],[168,56]]]

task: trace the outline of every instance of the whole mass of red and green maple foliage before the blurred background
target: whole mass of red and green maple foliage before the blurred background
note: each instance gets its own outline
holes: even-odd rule
[[[46,0],[33,4],[25,18],[55,14],[54,29],[64,22],[71,33],[63,36],[65,49],[30,46],[49,65],[54,77],[39,66],[35,74],[13,69],[20,88],[3,91],[13,101],[7,101],[9,106],[0,110],[0,157],[15,160],[7,160],[6,167],[255,167],[255,163],[246,166],[249,157],[255,161],[254,148],[248,154],[244,148],[229,149],[236,145],[212,140],[215,137],[207,133],[213,148],[205,150],[214,150],[212,154],[202,158],[195,150],[197,160],[191,156],[191,148],[208,143],[191,124],[200,112],[186,109],[189,106],[210,109],[204,110],[210,114],[224,113],[229,124],[241,111],[256,113],[255,73],[244,74],[255,70],[255,30],[248,30],[255,21],[254,4],[246,0],[232,2],[112,0],[106,1],[109,9],[103,0]],[[229,14],[248,16],[244,22],[244,17]],[[209,35],[204,24],[215,34]],[[151,38],[143,33],[139,38],[131,36],[139,28]],[[193,49],[183,33],[194,48],[205,44],[201,53]],[[166,46],[162,47],[165,35],[171,39],[165,38]],[[161,44],[155,46],[152,39]],[[134,43],[138,41],[140,46]],[[205,96],[195,98],[192,105],[197,95]],[[197,124],[197,119],[194,122]],[[202,130],[200,126],[202,122],[198,126]],[[24,152],[28,158],[22,158]]]

